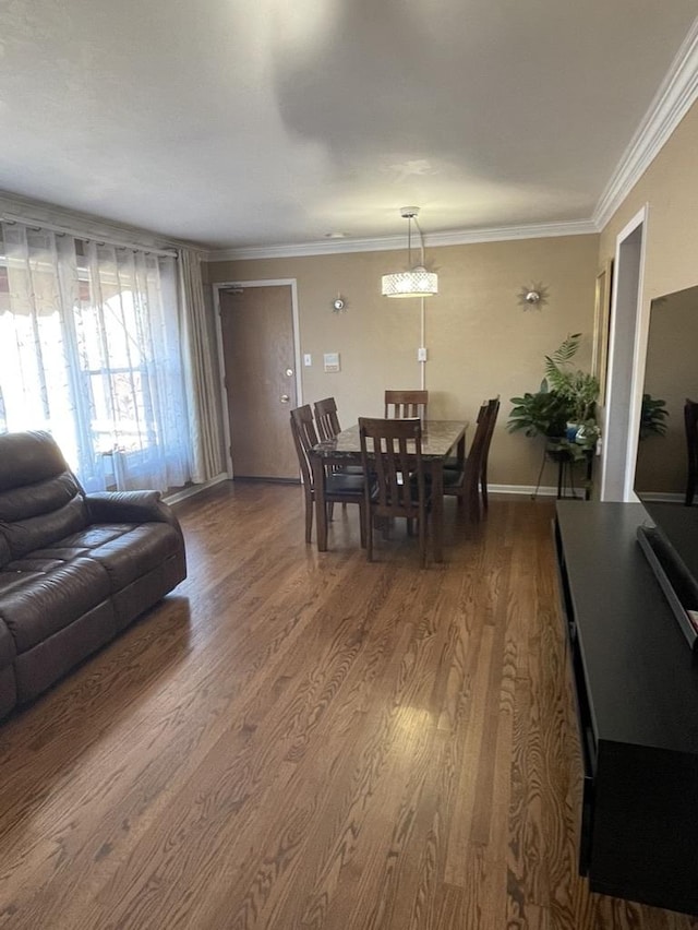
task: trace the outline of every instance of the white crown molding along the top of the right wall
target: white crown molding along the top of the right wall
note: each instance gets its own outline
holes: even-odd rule
[[[611,176],[593,212],[601,230],[629,194],[698,97],[698,17]]]

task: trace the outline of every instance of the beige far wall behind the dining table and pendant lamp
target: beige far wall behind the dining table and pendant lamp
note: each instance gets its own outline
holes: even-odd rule
[[[582,332],[579,363],[591,358],[598,236],[526,239],[430,248],[440,294],[426,300],[430,413],[474,420],[481,401],[502,396],[492,444],[494,485],[532,487],[540,466],[540,440],[510,436],[509,397],[535,391],[543,356],[568,333]],[[333,395],[344,425],[360,415],[382,415],[385,388],[419,388],[420,301],[381,297],[381,275],[405,266],[406,250],[300,259],[214,262],[209,283],[296,278],[301,353],[313,357],[302,371],[303,400]],[[542,282],[549,303],[524,311],[518,293]],[[344,313],[332,311],[338,293]],[[338,351],[341,372],[325,374],[323,353]],[[549,469],[543,484],[554,484]]]

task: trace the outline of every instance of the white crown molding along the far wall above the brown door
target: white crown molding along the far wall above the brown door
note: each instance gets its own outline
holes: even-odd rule
[[[591,219],[564,223],[535,223],[529,226],[500,226],[482,229],[460,229],[452,233],[424,235],[424,245],[469,246],[478,242],[506,242],[509,239],[547,239],[556,236],[586,236],[597,233]],[[237,249],[212,250],[208,262],[242,261],[243,259],[296,259],[309,255],[337,255],[349,252],[389,252],[405,248],[405,236],[375,239],[330,239],[303,242],[298,246],[243,246]]]

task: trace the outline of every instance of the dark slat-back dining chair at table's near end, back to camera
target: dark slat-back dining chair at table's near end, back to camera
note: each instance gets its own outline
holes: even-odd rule
[[[373,561],[376,518],[405,517],[408,529],[417,521],[421,565],[426,565],[430,493],[422,463],[419,418],[359,418],[361,462],[365,488],[366,556]],[[405,480],[405,476],[409,476]]]

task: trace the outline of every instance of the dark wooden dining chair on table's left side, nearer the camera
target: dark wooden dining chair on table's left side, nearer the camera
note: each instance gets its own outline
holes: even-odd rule
[[[313,504],[315,503],[315,485],[313,481],[313,467],[311,463],[311,450],[318,443],[313,412],[310,404],[296,407],[291,412],[291,432],[293,444],[298,453],[298,463],[301,469],[303,491],[305,496],[305,541],[310,542],[313,530]],[[363,491],[363,475],[348,475],[344,472],[330,472],[325,474],[325,500],[327,502],[328,517],[332,517],[332,504],[356,503],[359,505],[359,520],[361,522],[361,548],[365,548],[365,496]]]

